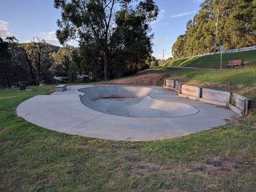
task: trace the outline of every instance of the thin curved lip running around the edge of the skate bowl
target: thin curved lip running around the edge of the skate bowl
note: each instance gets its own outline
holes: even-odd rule
[[[91,88],[100,88],[100,87],[137,87],[137,88],[149,88],[149,89],[154,89],[154,90],[157,90],[158,92],[159,92],[159,90],[158,89],[156,89],[155,87],[147,87],[147,86],[132,86],[132,85],[111,85],[111,86],[109,86],[109,85],[106,85],[106,86],[91,86],[91,87],[84,87],[84,88],[81,88],[81,89],[78,89],[77,91],[79,91],[79,92],[81,92],[81,93],[84,93],[84,92],[82,92],[81,90],[84,90],[84,89],[91,89]],[[102,111],[98,111],[98,110],[95,110],[95,109],[93,109],[93,108],[91,108],[91,107],[88,107],[88,106],[86,106],[82,101],[81,101],[81,98],[83,97],[84,95],[79,95],[79,99],[80,99],[80,102],[85,106],[85,107],[87,107],[87,108],[89,108],[89,109],[92,109],[92,110],[94,110],[94,111],[97,111],[98,113],[101,113],[101,114],[106,114],[106,115],[111,115],[111,116],[117,116],[117,117],[130,117],[130,118],[179,118],[179,117],[188,117],[188,116],[192,116],[192,115],[196,115],[196,114],[198,114],[198,113],[200,113],[200,109],[198,108],[198,107],[196,107],[196,106],[194,106],[194,105],[188,105],[188,104],[186,104],[186,103],[182,103],[183,105],[188,105],[188,106],[191,106],[191,107],[194,107],[196,110],[197,110],[197,112],[196,113],[193,113],[193,114],[189,114],[189,115],[182,115],[182,116],[166,116],[166,117],[134,117],[134,116],[125,116],[125,115],[114,115],[114,114],[108,114],[108,113],[103,113]],[[145,95],[145,97],[146,96],[148,96],[148,97],[151,97],[151,98],[153,98],[153,99],[155,99],[155,100],[158,100],[158,101],[167,101],[167,100],[161,100],[161,99],[157,99],[157,98],[154,98],[152,95],[149,95],[149,93],[147,93],[146,95]],[[167,102],[172,102],[172,103],[181,103],[181,102],[174,102],[174,101],[167,101]]]

